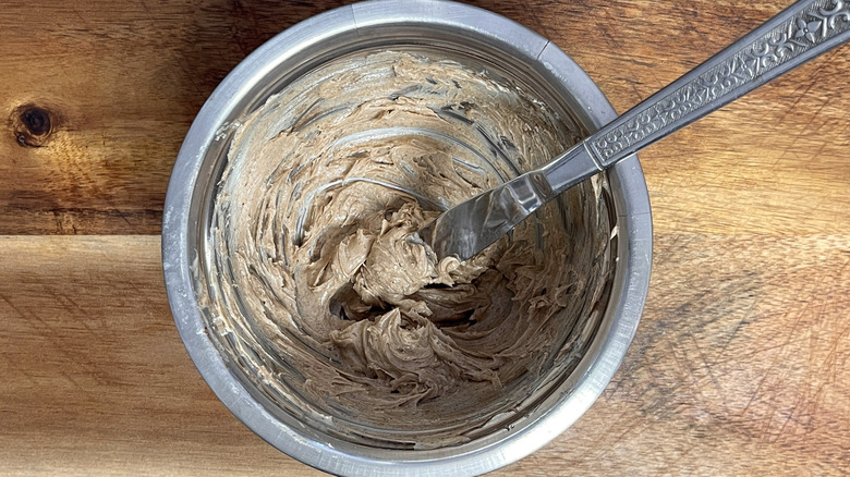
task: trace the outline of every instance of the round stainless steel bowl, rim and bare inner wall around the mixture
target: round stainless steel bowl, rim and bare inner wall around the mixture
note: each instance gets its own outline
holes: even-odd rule
[[[569,376],[524,409],[522,419],[482,439],[432,450],[359,445],[286,418],[229,366],[198,305],[193,268],[227,158],[231,125],[307,71],[343,54],[399,46],[453,51],[498,64],[535,85],[546,102],[586,131],[616,114],[587,75],[534,32],[474,7],[433,0],[378,0],[332,10],[278,35],[246,58],[198,113],[174,166],[162,227],[169,302],[195,365],[247,427],[287,454],[339,475],[477,475],[514,462],[554,439],[602,393],[631,343],[649,280],[652,219],[638,158],[608,173],[616,266],[607,306]]]

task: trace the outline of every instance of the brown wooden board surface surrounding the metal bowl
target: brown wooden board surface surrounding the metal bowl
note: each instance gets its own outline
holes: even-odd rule
[[[623,111],[790,0],[491,0]],[[171,320],[171,166],[218,82],[337,5],[0,4],[0,473],[316,475],[208,390]],[[651,292],[599,401],[495,475],[850,472],[850,47],[653,146]]]

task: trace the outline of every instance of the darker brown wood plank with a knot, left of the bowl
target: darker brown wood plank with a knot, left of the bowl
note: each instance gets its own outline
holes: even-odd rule
[[[333,5],[4,1],[0,234],[159,233],[180,144],[216,85]],[[52,118],[35,147],[14,127],[22,106]]]

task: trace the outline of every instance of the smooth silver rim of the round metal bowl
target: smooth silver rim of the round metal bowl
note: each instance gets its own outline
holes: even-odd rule
[[[169,304],[183,343],[210,389],[242,421],[275,448],[299,461],[337,475],[478,475],[515,462],[569,428],[602,394],[622,363],[640,321],[649,284],[652,216],[649,197],[636,156],[608,173],[623,240],[618,247],[608,313],[588,351],[573,371],[578,380],[538,418],[493,445],[437,458],[393,460],[352,455],[317,442],[277,419],[252,397],[219,354],[197,306],[189,243],[195,183],[209,145],[236,103],[245,84],[254,84],[293,51],[340,32],[392,25],[438,24],[509,46],[514,54],[536,61],[573,91],[586,119],[599,127],[617,114],[587,74],[555,44],[497,13],[444,0],[372,0],[326,11],[278,34],[243,60],[216,88],[195,118],[174,163],[162,218],[162,268]],[[508,39],[506,39],[508,38]],[[626,246],[622,246],[626,245]],[[581,371],[581,372],[580,372]],[[560,390],[559,390],[560,391]],[[421,452],[421,451],[399,451]]]

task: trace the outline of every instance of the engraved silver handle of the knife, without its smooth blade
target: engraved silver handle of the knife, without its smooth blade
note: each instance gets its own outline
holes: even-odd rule
[[[585,139],[599,169],[850,39],[850,3],[801,0]]]

